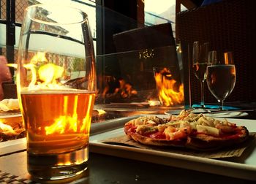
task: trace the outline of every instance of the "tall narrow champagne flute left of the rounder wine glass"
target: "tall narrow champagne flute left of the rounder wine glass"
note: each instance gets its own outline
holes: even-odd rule
[[[204,104],[204,82],[206,80],[206,67],[208,66],[208,42],[194,42],[193,43],[193,69],[195,76],[200,81],[200,107],[205,108]]]

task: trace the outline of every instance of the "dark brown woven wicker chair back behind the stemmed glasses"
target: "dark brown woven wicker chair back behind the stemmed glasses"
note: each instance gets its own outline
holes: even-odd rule
[[[236,64],[236,86],[225,101],[256,101],[256,24],[254,0],[225,0],[208,6],[179,12],[176,28],[181,42],[184,64],[184,88],[193,102],[200,101],[200,86],[192,68],[192,42],[208,41],[212,50],[232,50]],[[206,86],[207,89],[207,86]],[[189,94],[185,97],[189,98]],[[206,90],[206,103],[216,102]],[[189,99],[186,99],[189,100]]]

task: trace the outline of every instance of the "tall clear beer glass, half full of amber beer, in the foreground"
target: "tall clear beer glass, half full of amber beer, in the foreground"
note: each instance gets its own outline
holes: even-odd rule
[[[26,9],[17,85],[32,177],[59,180],[87,169],[95,75],[85,12],[43,4]]]

